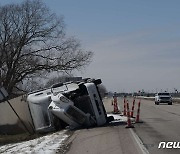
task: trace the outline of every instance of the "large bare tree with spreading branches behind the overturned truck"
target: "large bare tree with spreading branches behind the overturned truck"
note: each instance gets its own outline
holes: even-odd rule
[[[0,83],[9,93],[27,78],[90,63],[92,52],[67,38],[64,26],[39,0],[0,7]]]

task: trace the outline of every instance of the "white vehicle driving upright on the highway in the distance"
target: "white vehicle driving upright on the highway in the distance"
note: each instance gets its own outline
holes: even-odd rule
[[[157,93],[155,95],[155,104],[159,105],[159,103],[168,103],[168,105],[172,105],[172,97],[169,93]]]

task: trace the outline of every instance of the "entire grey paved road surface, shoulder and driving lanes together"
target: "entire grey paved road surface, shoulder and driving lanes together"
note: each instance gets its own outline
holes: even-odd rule
[[[132,98],[127,98],[132,107]],[[113,111],[112,99],[104,101],[107,112]],[[137,112],[136,99],[135,113]],[[123,98],[118,98],[123,111]],[[140,120],[135,128],[126,129],[125,123],[75,131],[68,141],[67,154],[179,154],[180,149],[158,149],[163,142],[180,142],[180,104],[155,105],[153,101],[141,100]],[[148,152],[147,152],[147,151]]]

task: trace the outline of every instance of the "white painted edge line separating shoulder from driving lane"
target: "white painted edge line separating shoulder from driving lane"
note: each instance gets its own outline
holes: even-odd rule
[[[134,137],[135,141],[137,142],[137,144],[139,145],[142,153],[143,153],[143,154],[149,154],[149,151],[146,149],[146,147],[144,146],[143,142],[142,142],[141,139],[137,136],[137,134],[133,131],[132,128],[130,128],[130,132],[131,132],[132,136]]]

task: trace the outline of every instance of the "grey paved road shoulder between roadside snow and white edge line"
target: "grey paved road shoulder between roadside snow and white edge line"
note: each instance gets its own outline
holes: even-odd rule
[[[111,99],[106,99],[104,104],[111,113]],[[126,117],[122,119],[126,121]],[[125,126],[124,120],[120,120],[107,126],[77,130],[68,140],[67,154],[143,154],[133,131]]]

